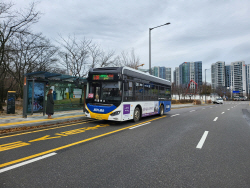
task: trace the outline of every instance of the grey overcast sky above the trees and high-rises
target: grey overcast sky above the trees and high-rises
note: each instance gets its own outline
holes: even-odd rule
[[[31,2],[12,0],[18,8]],[[149,67],[149,28],[167,22],[151,31],[152,67],[202,61],[204,78],[216,61],[250,64],[249,0],[40,0],[36,10],[42,16],[35,32],[52,41],[75,34],[117,55],[133,48],[143,68]]]

